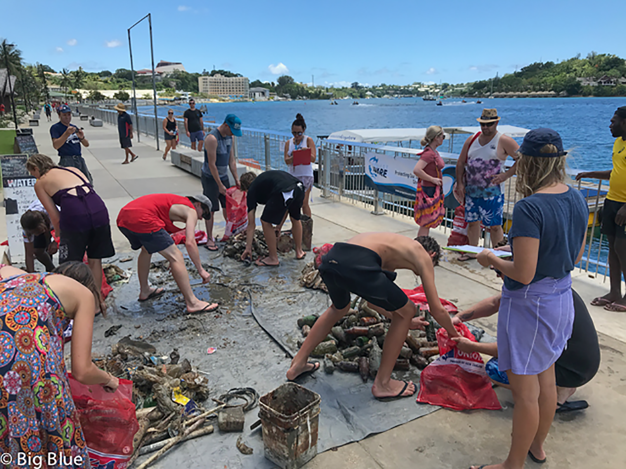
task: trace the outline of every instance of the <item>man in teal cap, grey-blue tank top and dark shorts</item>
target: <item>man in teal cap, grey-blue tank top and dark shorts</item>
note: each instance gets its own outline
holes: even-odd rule
[[[185,111],[187,112],[187,111]],[[185,119],[187,121],[187,119]],[[222,205],[224,219],[226,217],[226,189],[230,187],[228,169],[235,179],[235,185],[239,187],[239,175],[235,163],[235,153],[232,141],[235,137],[242,136],[241,119],[235,114],[228,114],[222,125],[207,134],[204,140],[204,163],[202,164],[202,193],[210,199],[213,213]],[[207,227],[207,249],[217,251],[217,245],[213,240],[213,218],[205,218]]]

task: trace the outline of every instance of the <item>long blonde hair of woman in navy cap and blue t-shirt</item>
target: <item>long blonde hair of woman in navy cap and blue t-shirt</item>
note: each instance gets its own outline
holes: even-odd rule
[[[553,144],[546,144],[540,153],[558,153]],[[528,156],[518,153],[515,188],[524,197],[534,194],[544,186],[564,183],[567,180],[567,158]]]

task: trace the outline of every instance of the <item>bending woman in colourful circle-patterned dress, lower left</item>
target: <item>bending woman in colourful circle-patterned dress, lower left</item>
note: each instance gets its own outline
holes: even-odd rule
[[[59,461],[60,453],[58,467],[90,467],[63,355],[70,320],[74,378],[111,392],[119,385],[91,361],[93,318],[103,308],[90,269],[68,262],[56,271],[63,275],[0,268],[0,451],[11,455],[11,468],[17,467],[18,453],[42,456],[44,462],[48,454]]]

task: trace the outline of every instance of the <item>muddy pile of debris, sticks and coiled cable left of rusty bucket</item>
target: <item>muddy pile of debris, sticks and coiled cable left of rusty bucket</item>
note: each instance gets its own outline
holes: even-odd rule
[[[236,388],[212,398],[217,406],[204,408],[202,403],[209,397],[205,373],[186,358],[181,359],[176,348],[169,356],[160,355],[150,343],[126,336],[111,347],[110,355],[94,356],[92,360],[111,375],[133,382],[132,402],[139,430],[133,438],[128,467],[138,456],[158,451],[140,466],[143,468],[180,441],[212,433],[213,425],[205,425],[211,417],[217,416],[221,431],[242,431],[244,411],[258,405],[257,391]],[[245,403],[232,405],[233,399]],[[250,448],[242,442],[237,447],[249,454],[245,451]]]

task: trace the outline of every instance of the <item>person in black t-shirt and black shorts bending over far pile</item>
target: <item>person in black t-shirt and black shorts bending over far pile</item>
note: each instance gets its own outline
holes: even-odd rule
[[[295,241],[295,258],[304,259],[302,251],[302,223],[300,214],[304,202],[304,186],[299,179],[285,171],[265,171],[257,176],[255,173],[245,173],[239,178],[242,191],[245,191],[248,204],[248,229],[245,251],[241,259],[252,257],[252,240],[256,228],[255,213],[257,205],[265,205],[261,215],[261,225],[269,256],[257,259],[258,266],[277,266],[278,260],[278,236],[280,231],[275,231],[274,226],[282,226],[287,219],[287,213],[291,219],[291,233]]]

